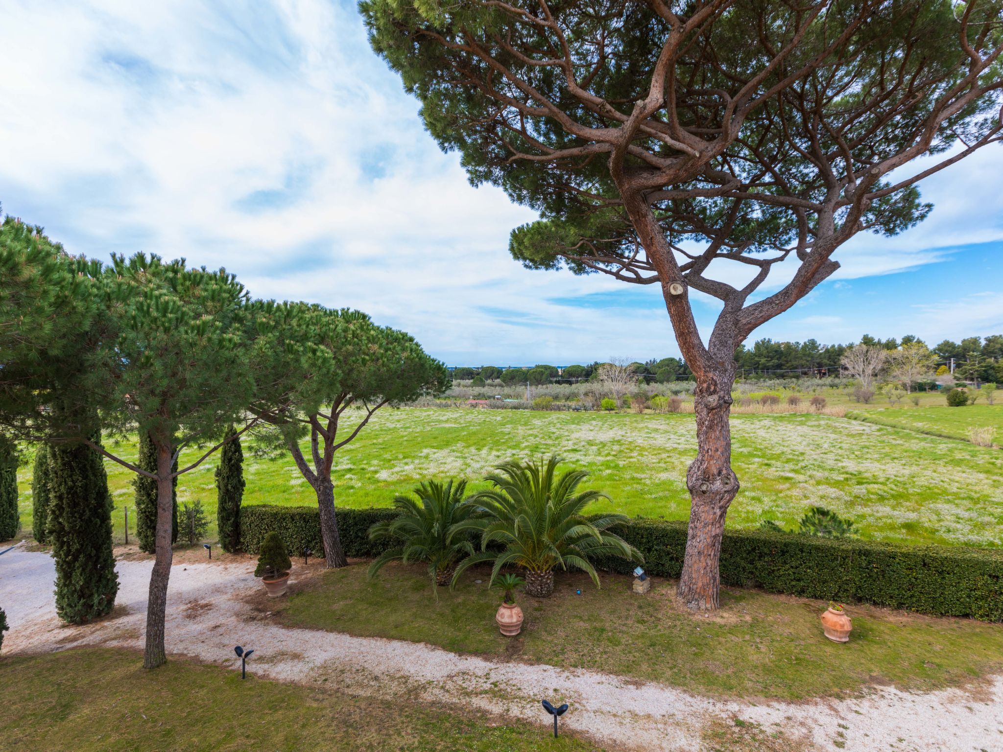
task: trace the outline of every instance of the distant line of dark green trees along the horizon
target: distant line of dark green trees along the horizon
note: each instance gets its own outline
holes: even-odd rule
[[[905,345],[929,347],[915,335],[906,335],[901,340],[891,337],[880,340],[864,335],[859,343],[849,345],[822,345],[817,340],[804,342],[774,342],[764,338],[752,347],[744,345],[735,353],[739,378],[810,378],[834,376],[839,374],[843,354],[857,344],[897,350]],[[980,381],[1003,381],[1003,335],[986,337],[966,337],[960,343],[944,340],[930,352],[937,358],[937,365],[950,367],[954,359],[955,373],[960,378]],[[588,365],[564,367],[538,364],[532,368],[481,366],[479,368],[459,367],[452,370],[454,381],[501,381],[506,384],[546,384],[554,381],[574,383],[588,381],[602,362]],[[644,363],[631,363],[635,374],[647,382],[688,381],[692,373],[680,358],[653,358]]]

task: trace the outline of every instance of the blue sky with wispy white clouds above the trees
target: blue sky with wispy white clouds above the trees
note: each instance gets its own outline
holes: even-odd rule
[[[359,308],[451,365],[678,353],[657,289],[509,257],[534,214],[438,150],[354,4],[4,5],[0,204],[69,251],[226,266],[256,296]],[[927,222],[858,237],[753,337],[1003,332],[1003,151],[921,187]],[[713,306],[695,309],[709,331]]]

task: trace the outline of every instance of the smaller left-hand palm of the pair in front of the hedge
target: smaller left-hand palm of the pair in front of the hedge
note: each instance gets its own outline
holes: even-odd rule
[[[387,561],[424,561],[436,585],[448,585],[456,561],[473,552],[468,533],[450,534],[451,528],[477,512],[476,507],[464,503],[465,490],[465,480],[455,484],[451,479],[445,483],[432,480],[414,489],[417,499],[394,496],[393,505],[400,515],[372,525],[369,537],[393,538],[399,545],[384,551],[369,566],[369,577],[375,577]]]

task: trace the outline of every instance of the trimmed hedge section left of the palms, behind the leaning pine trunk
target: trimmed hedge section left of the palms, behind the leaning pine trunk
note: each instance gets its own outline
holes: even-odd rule
[[[376,522],[393,519],[396,509],[337,509],[338,536],[346,556],[378,556],[388,547],[386,541],[369,539],[369,528]],[[276,531],[293,555],[305,548],[323,555],[320,537],[320,511],[316,506],[273,506],[251,504],[241,508],[241,550],[257,553],[270,531]]]

